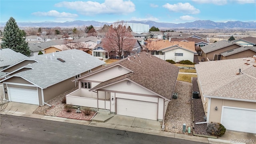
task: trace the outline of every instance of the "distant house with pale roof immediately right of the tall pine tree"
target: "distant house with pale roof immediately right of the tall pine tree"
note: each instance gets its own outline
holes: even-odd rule
[[[29,47],[29,50],[31,50],[31,53],[30,53],[31,56],[36,56],[40,51],[44,54],[43,49],[45,48],[49,48],[50,46],[61,45],[61,44],[64,44],[64,40],[50,40],[47,42],[29,43],[28,47]]]

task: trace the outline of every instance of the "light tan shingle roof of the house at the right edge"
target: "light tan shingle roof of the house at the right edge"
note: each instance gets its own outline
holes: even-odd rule
[[[199,62],[195,68],[204,96],[256,102],[254,58]]]

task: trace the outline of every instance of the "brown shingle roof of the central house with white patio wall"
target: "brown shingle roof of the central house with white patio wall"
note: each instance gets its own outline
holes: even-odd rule
[[[124,58],[108,66],[104,66],[103,68],[100,68],[88,75],[95,74],[115,65],[123,66],[132,72],[102,82],[90,91],[97,90],[114,82],[130,80],[148,90],[151,90],[159,96],[171,100],[179,67],[143,51],[134,56],[130,56],[130,60],[128,58]],[[86,75],[84,77],[86,77]]]

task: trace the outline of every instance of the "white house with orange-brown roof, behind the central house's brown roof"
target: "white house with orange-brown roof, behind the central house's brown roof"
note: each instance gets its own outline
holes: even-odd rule
[[[174,60],[175,62],[190,60],[194,62],[194,54],[197,54],[194,45],[194,42],[156,40],[148,42],[146,50],[162,60]]]

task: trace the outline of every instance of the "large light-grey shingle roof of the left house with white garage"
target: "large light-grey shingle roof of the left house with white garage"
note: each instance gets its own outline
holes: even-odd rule
[[[65,60],[65,62],[61,62],[57,58],[61,58],[62,60]],[[40,88],[47,88],[105,64],[102,60],[76,49],[36,55],[29,57],[28,59],[38,61],[26,65],[31,67],[32,70],[19,72],[4,80],[16,76],[21,77]]]

